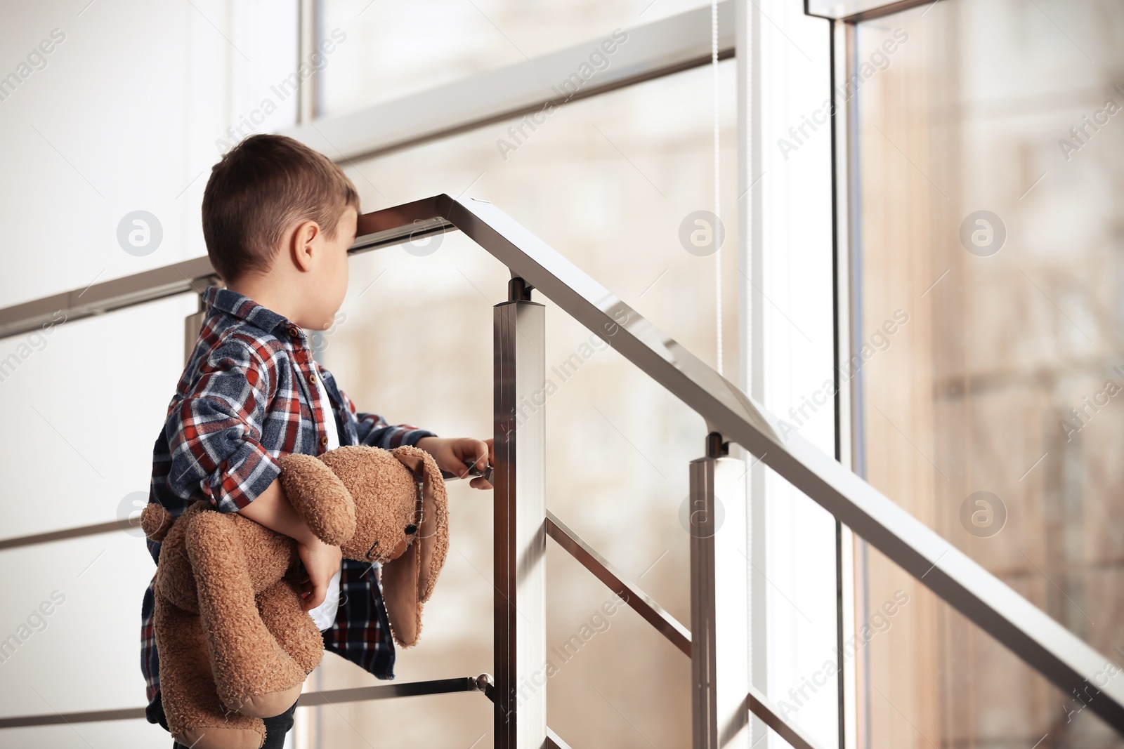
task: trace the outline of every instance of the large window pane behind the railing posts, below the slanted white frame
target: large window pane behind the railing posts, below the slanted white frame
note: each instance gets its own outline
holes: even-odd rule
[[[733,61],[719,73],[724,161],[733,164]],[[709,68],[687,71],[563,107],[511,153],[497,140],[516,124],[501,122],[346,171],[364,210],[439,192],[492,201],[714,363],[715,257],[679,239],[683,219],[713,205],[711,92]],[[728,217],[735,185],[734,170],[725,172]],[[733,225],[722,253],[727,362],[737,349]],[[324,360],[357,407],[442,436],[491,435],[491,307],[507,298],[507,270],[453,232],[438,246],[361,255],[351,274]],[[680,511],[706,426],[550,303],[546,334],[547,505],[689,622]],[[419,645],[399,652],[402,681],[491,669],[491,495],[459,482],[450,492],[453,548]],[[598,615],[606,588],[553,541],[547,548],[551,725],[575,747],[689,745],[690,660],[632,610]],[[321,670],[323,688],[371,682],[334,657]],[[389,743],[439,736],[465,747],[490,737],[490,704],[455,697],[447,711],[424,701],[321,710],[321,736],[325,746],[344,746],[357,730]]]

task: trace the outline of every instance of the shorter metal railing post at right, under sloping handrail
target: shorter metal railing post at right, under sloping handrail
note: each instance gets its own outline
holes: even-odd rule
[[[691,460],[691,724],[694,749],[750,749],[745,464],[722,435]]]

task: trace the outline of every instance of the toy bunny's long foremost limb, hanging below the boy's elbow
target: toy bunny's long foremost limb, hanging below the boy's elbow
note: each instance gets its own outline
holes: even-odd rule
[[[297,701],[306,673],[262,621],[234,520],[200,513],[185,546],[219,698],[230,710],[270,718]]]

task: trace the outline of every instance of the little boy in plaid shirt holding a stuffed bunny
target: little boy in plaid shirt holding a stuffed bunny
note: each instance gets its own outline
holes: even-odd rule
[[[338,546],[311,533],[284,496],[278,458],[320,455],[341,445],[415,445],[463,477],[468,466],[491,462],[492,440],[441,438],[356,413],[332,374],[312,359],[302,329],[326,330],[343,302],[357,214],[351,180],[291,138],[252,136],[211,170],[203,238],[226,289],[203,293],[208,312],[156,439],[148,501],[179,517],[191,502],[206,500],[219,512],[241,512],[296,539],[306,570],[303,608],[324,634],[325,649],[379,678],[393,678],[395,648],[378,572],[342,559]],[[471,486],[491,484],[477,477]],[[147,544],[156,560],[160,544]],[[142,604],[140,670],[147,720],[167,729],[153,610],[149,583]],[[265,719],[264,747],[282,746],[296,707]]]

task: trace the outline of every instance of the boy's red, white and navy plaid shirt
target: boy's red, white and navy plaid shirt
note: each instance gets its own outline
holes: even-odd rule
[[[160,502],[173,518],[199,500],[219,512],[237,512],[278,477],[280,456],[319,455],[328,444],[325,419],[329,417],[316,398],[305,332],[227,289],[208,287],[203,301],[209,309],[199,341],[153,449],[148,501]],[[409,424],[390,426],[375,413],[356,413],[332,373],[318,368],[341,445],[390,449],[435,436]],[[155,561],[160,544],[146,542]],[[378,565],[342,560],[339,609],[335,623],[324,632],[324,647],[388,679],[395,677],[395,646],[377,577]],[[154,723],[160,692],[153,632],[155,582],[154,574],[140,606],[140,670],[148,720]]]

